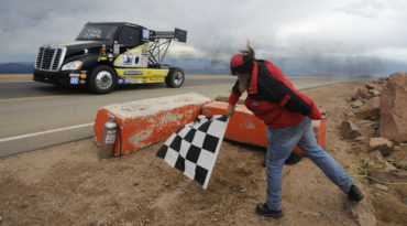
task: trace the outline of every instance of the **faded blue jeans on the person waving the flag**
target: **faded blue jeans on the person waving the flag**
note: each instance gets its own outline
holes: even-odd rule
[[[344,193],[355,182],[320,146],[312,131],[311,119],[306,117],[297,126],[282,129],[267,129],[267,206],[273,211],[282,209],[283,166],[293,149],[298,146],[323,173]]]

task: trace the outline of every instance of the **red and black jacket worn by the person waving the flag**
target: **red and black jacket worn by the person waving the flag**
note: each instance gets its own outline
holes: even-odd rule
[[[258,64],[265,64],[266,67],[258,69],[257,62]],[[257,62],[254,62],[253,65],[248,98],[245,100],[248,109],[253,111],[257,118],[273,129],[296,126],[306,116],[311,119],[321,118],[321,114],[314,101],[296,90],[278,67],[267,61]],[[274,78],[262,79],[264,76],[273,76]],[[278,86],[271,80],[277,82]],[[262,86],[260,86],[260,83],[262,83]],[[271,89],[274,90],[270,92]],[[233,88],[229,104],[235,105],[240,96],[241,94],[237,93],[237,89]],[[288,101],[290,101],[289,105],[287,105]],[[305,110],[297,110],[295,106],[297,103],[298,106],[302,105],[309,109],[306,111],[308,115],[304,115]]]

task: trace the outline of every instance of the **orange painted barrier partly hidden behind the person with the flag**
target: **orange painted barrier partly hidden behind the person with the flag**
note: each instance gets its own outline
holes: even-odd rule
[[[227,112],[228,103],[209,103],[202,106],[202,115],[223,115]],[[230,118],[224,138],[242,143],[267,147],[266,126],[257,119],[244,105],[237,105],[234,115]],[[312,121],[314,132],[318,144],[323,147],[326,140],[326,120]],[[304,154],[298,147],[294,152]]]

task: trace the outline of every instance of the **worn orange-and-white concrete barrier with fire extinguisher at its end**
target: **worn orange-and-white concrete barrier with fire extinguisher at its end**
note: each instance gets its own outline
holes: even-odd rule
[[[106,106],[95,121],[96,142],[101,143],[103,126],[114,116],[122,131],[122,154],[136,151],[168,138],[174,131],[195,120],[202,105],[211,99],[195,93],[143,99]],[[114,155],[119,154],[117,136]]]

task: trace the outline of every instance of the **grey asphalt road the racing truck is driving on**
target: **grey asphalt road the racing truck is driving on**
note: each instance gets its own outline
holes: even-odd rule
[[[99,108],[162,96],[198,93],[213,98],[229,94],[232,76],[187,76],[180,88],[164,84],[121,87],[109,95],[94,95],[86,89],[58,88],[31,80],[0,82],[0,157],[70,142],[94,136]],[[338,82],[343,77],[292,78],[297,89]]]

